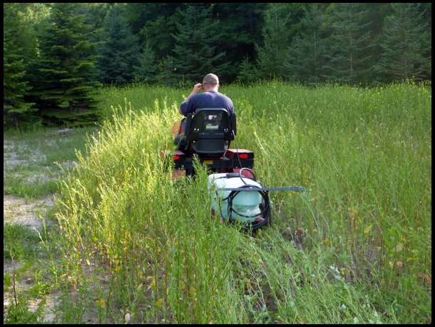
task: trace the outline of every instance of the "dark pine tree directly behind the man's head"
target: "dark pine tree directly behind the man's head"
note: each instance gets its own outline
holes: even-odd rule
[[[181,22],[173,34],[175,46],[173,67],[170,67],[178,80],[202,81],[206,74],[219,76],[227,68],[225,52],[218,51],[214,45],[221,35],[218,21],[211,19],[212,8],[212,5],[185,4],[178,10]]]

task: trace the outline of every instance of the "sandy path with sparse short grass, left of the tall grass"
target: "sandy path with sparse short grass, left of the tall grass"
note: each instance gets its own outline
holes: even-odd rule
[[[88,133],[93,133],[93,130],[53,129],[29,134],[4,134],[3,223],[4,226],[9,227],[9,231],[14,231],[16,225],[19,225],[25,228],[24,232],[27,232],[28,228],[36,236],[36,241],[29,243],[32,246],[31,250],[35,250],[34,253],[29,254],[30,258],[21,256],[21,259],[15,258],[15,261],[11,261],[11,258],[4,256],[3,273],[6,276],[3,288],[4,323],[9,308],[14,309],[15,296],[12,281],[15,281],[18,298],[25,303],[29,312],[35,313],[41,305],[44,305],[42,313],[38,313],[38,321],[34,318],[31,323],[40,323],[41,319],[46,323],[56,323],[60,318],[56,316],[55,309],[62,301],[61,292],[57,288],[50,289],[48,293],[37,291],[38,287],[36,290],[34,288],[36,283],[40,283],[39,286],[41,283],[52,283],[50,268],[53,263],[48,262],[47,253],[43,247],[40,248],[37,232],[42,231],[44,223],[48,230],[56,225],[51,215],[56,196],[53,193],[57,190],[53,181],[63,176],[65,170],[68,171],[76,166],[76,151],[85,150]],[[22,228],[21,232],[23,232]],[[17,230],[20,232],[20,228]],[[14,242],[27,246],[27,243],[23,244],[26,242],[27,233],[26,236],[4,233],[4,240],[5,235],[8,236],[8,241],[4,243],[4,247],[13,246]],[[39,282],[36,281],[36,273],[40,274]],[[74,294],[67,296],[74,296]],[[25,315],[19,313],[19,316],[23,314]],[[91,315],[86,318],[86,321],[98,323],[96,317]]]

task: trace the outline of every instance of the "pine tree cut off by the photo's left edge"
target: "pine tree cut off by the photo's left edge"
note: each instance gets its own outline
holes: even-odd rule
[[[3,124],[35,124],[35,104],[26,101],[31,86],[26,77],[29,59],[36,49],[29,42],[30,32],[19,4],[4,4],[3,14]]]

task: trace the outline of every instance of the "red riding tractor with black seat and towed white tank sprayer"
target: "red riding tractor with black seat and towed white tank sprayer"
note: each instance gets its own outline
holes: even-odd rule
[[[264,188],[255,177],[254,152],[229,149],[237,135],[236,115],[225,109],[197,109],[185,119],[185,138],[170,153],[175,172],[194,176],[193,157],[208,167],[211,215],[223,221],[239,221],[245,228],[258,229],[271,221],[270,191],[304,191],[302,187]]]

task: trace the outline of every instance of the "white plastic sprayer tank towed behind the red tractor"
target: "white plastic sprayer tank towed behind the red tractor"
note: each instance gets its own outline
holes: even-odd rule
[[[243,178],[243,181],[248,185],[262,187],[260,183],[250,178]],[[208,193],[212,196],[212,209],[221,218],[229,218],[227,197],[231,191],[220,191],[220,189],[239,188],[245,185],[243,181],[240,177],[227,177],[227,173],[213,173],[208,176]],[[240,191],[232,200],[232,209],[236,212],[231,213],[231,218],[241,222],[255,221],[255,218],[261,216],[261,202],[262,196],[259,192]]]

